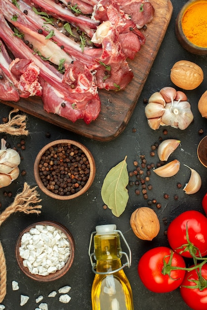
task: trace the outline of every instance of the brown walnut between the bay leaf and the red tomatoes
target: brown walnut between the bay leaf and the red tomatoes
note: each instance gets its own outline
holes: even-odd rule
[[[152,241],[159,232],[160,225],[155,211],[149,207],[136,209],[130,218],[134,234],[142,240]]]

